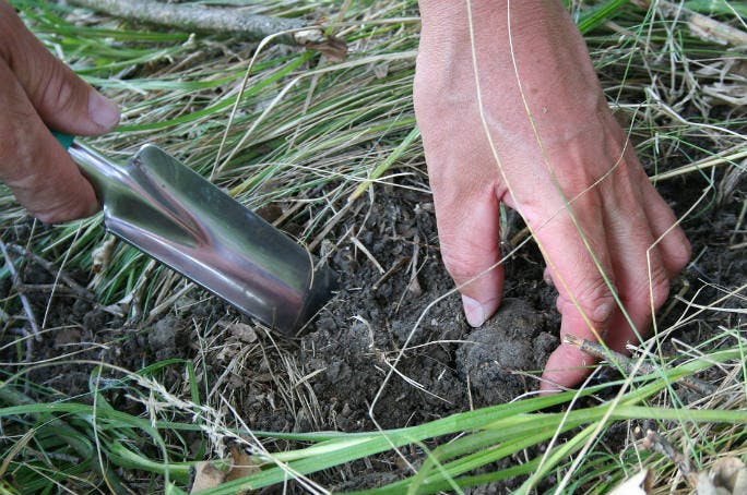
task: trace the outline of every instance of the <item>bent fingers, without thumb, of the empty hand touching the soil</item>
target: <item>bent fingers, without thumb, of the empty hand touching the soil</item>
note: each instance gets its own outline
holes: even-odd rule
[[[558,310],[562,314],[561,339],[568,334],[590,340],[602,338],[609,348],[625,351],[628,343],[638,343],[648,334],[653,312],[664,304],[668,295],[669,277],[679,270],[689,257],[689,244],[678,229],[673,229],[661,242],[655,242],[672,227],[674,215],[651,186],[637,161],[625,164],[613,185],[602,185],[605,186],[606,189],[598,194],[586,193],[588,201],[573,204],[573,210],[577,212],[582,226],[589,226],[590,220],[603,226],[602,231],[586,227],[588,237],[601,244],[593,247],[598,264],[584,266],[582,263],[578,265],[580,271],[572,268],[568,271],[565,268],[567,258],[556,253],[555,256],[559,261],[549,258],[556,266],[555,271],[549,270],[549,274],[559,291]],[[589,208],[594,206],[594,201],[591,201],[594,197],[598,197],[600,205],[595,209],[601,213],[600,218],[589,213]],[[558,224],[558,229],[561,230],[564,222]],[[547,234],[561,233],[553,232],[550,227]],[[568,242],[569,239],[579,238],[578,232],[569,230],[564,239]],[[579,242],[570,242],[569,251],[579,249]],[[547,250],[546,256],[553,256],[552,249]],[[605,256],[608,263],[605,262]],[[606,283],[602,285],[598,268],[604,269],[617,291],[617,299],[621,305],[609,300],[612,290]],[[567,277],[585,279],[585,286],[582,283],[581,289],[573,289],[569,283],[558,283],[559,279]],[[593,298],[590,300],[583,295],[590,293],[589,290],[584,292],[583,287],[600,288],[596,290],[600,294],[596,303],[590,304]],[[576,298],[576,303],[570,301],[571,295]],[[598,312],[596,315],[593,313],[594,307]],[[609,309],[612,311],[608,311]],[[561,345],[548,359],[542,388],[549,390],[557,386],[574,385],[588,375],[589,366],[593,362],[593,359],[578,349]]]

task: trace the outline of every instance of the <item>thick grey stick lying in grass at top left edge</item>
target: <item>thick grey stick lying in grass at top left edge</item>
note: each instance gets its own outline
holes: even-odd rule
[[[256,15],[236,8],[153,0],[71,0],[71,3],[128,21],[200,33],[220,33],[253,41],[284,32],[296,33],[276,36],[273,39],[286,45],[323,39],[321,31],[315,27],[309,27],[309,31],[318,32],[315,39],[307,39],[308,33],[301,38],[298,31],[307,27],[307,23],[300,19]]]

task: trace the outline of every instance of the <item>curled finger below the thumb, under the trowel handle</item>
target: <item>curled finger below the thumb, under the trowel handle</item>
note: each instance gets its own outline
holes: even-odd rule
[[[39,119],[21,84],[0,59],[0,181],[43,221],[92,215],[91,184]]]

